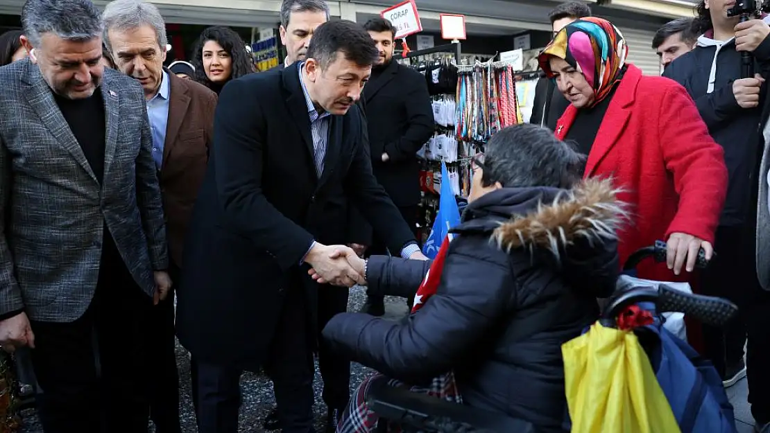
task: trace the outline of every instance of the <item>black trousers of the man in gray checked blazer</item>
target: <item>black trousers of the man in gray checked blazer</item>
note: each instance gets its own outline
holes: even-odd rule
[[[45,433],[146,433],[151,313],[152,298],[121,263],[102,266],[91,305],[77,320],[32,321]]]

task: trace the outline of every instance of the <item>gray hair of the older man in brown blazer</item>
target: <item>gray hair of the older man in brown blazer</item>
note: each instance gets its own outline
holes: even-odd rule
[[[107,37],[110,30],[132,30],[149,25],[155,29],[158,45],[161,50],[166,49],[169,39],[166,37],[166,22],[160,11],[152,3],[143,0],[115,0],[104,8],[104,42],[112,52],[112,45]]]

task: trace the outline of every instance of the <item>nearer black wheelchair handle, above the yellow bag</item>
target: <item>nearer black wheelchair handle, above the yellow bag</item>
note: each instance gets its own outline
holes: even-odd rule
[[[602,320],[614,323],[625,308],[638,302],[652,302],[658,313],[678,311],[712,326],[723,326],[738,313],[738,307],[727,299],[685,293],[661,284],[658,288],[632,288],[614,295]]]

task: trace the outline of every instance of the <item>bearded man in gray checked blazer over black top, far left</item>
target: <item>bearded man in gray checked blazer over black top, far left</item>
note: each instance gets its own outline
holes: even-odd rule
[[[0,68],[0,344],[28,345],[46,433],[146,432],[166,231],[142,88],[89,0],[28,0]]]

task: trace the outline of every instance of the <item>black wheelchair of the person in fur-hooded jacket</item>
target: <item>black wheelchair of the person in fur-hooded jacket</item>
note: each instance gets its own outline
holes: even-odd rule
[[[666,244],[658,241],[655,245],[634,252],[624,271],[633,271],[646,258],[663,262],[666,259]],[[705,268],[704,251],[698,255],[697,268]],[[654,281],[650,281],[654,283]],[[722,326],[737,312],[738,308],[722,298],[694,295],[675,290],[665,284],[628,286],[618,284],[618,291],[608,299],[601,314],[601,323],[615,326],[618,315],[631,305],[646,302],[654,305],[658,314],[682,312],[702,323]],[[644,345],[643,345],[644,346]],[[458,405],[429,395],[410,392],[406,388],[393,388],[384,381],[373,384],[367,395],[367,405],[379,417],[378,433],[387,433],[387,426],[397,425],[405,433],[534,433],[531,423],[511,418],[496,411]],[[388,422],[390,421],[390,422]]]

